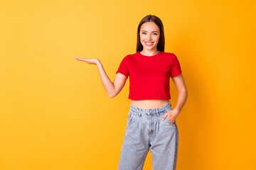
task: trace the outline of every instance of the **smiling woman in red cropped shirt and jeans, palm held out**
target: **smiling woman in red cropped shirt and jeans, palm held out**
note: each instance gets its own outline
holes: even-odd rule
[[[97,65],[110,98],[119,94],[129,77],[131,104],[118,169],[143,169],[149,150],[154,170],[176,169],[176,118],[188,94],[176,55],[164,52],[164,27],[161,20],[148,15],[140,21],[137,52],[123,58],[113,82],[107,77],[100,60],[80,57],[76,57],[76,60]],[[178,102],[174,109],[169,102],[170,77],[178,89]]]

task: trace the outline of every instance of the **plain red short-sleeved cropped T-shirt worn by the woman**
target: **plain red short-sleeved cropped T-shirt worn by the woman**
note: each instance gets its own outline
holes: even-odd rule
[[[117,72],[129,76],[129,99],[171,99],[170,77],[181,74],[181,66],[174,53],[161,52],[153,56],[136,52],[127,55]],[[116,74],[117,74],[116,72]]]

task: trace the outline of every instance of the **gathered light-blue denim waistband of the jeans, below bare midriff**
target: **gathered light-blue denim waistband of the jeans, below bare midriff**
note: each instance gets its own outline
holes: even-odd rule
[[[160,113],[164,111],[171,110],[171,102],[168,101],[164,106],[161,106],[160,108],[137,108],[136,106],[130,105],[130,110],[134,113],[137,113],[138,115],[146,114],[146,115],[157,115],[159,116]]]

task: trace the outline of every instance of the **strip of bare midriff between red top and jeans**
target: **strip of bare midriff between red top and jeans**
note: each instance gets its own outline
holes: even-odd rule
[[[159,100],[159,99],[148,99],[148,100],[131,100],[131,104],[137,108],[160,108],[168,103],[169,100]]]

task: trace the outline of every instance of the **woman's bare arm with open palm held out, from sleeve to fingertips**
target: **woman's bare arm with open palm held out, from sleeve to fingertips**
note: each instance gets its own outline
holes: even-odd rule
[[[105,91],[107,92],[107,95],[110,98],[113,98],[114,96],[117,96],[119,92],[124,87],[125,82],[127,81],[127,77],[125,77],[123,74],[117,73],[116,77],[114,78],[114,81],[112,82],[110,78],[107,76],[105,69],[103,68],[102,63],[98,59],[83,59],[80,57],[75,57],[76,60],[80,60],[83,62],[86,62],[88,64],[96,64],[97,68],[100,72],[100,79],[102,81],[102,84],[105,88]]]

